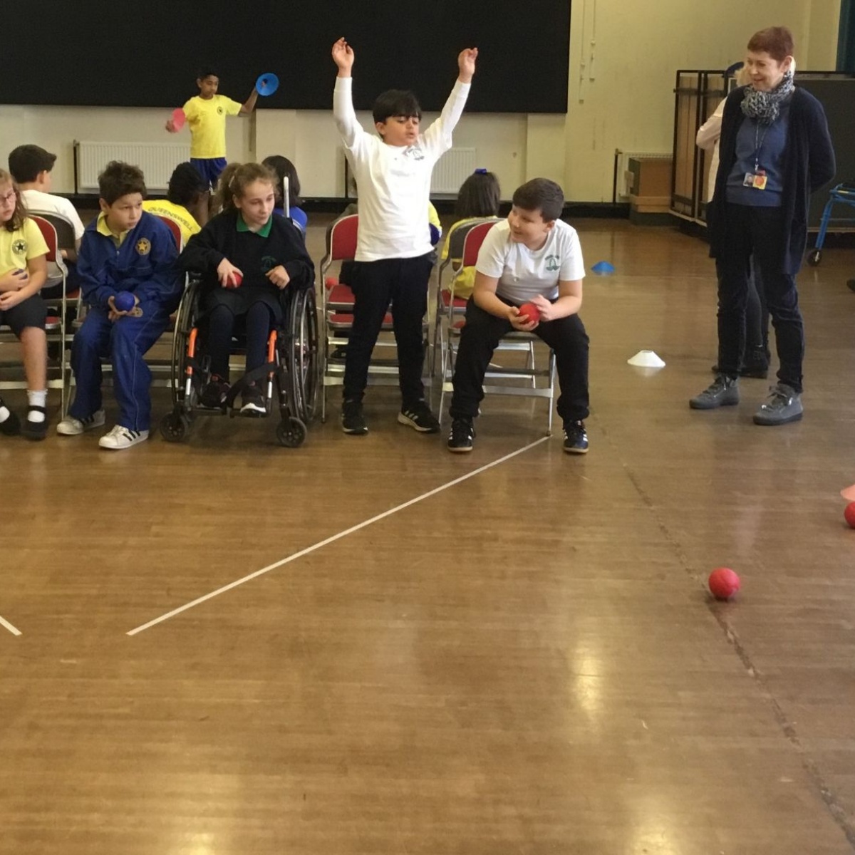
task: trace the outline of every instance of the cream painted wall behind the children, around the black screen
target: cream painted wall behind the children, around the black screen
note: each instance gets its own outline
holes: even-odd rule
[[[671,150],[678,68],[725,68],[743,56],[752,32],[772,24],[793,30],[800,68],[834,68],[839,15],[840,0],[575,0],[567,115],[464,114],[455,144],[478,150],[479,165],[498,174],[504,198],[523,180],[545,175],[568,198],[608,201],[616,148]],[[332,87],[331,74],[331,102]],[[0,105],[0,152],[27,142],[55,151],[54,186],[71,192],[74,139],[166,140],[168,113]],[[371,127],[369,114],[360,121]],[[262,109],[255,120],[235,119],[227,128],[230,160],[282,154],[297,165],[304,195],[344,195],[331,112]]]

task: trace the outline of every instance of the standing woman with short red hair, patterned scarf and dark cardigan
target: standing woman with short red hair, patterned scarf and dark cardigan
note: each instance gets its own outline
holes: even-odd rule
[[[689,401],[695,410],[739,404],[751,258],[763,282],[781,368],[758,425],[802,417],[805,327],[795,275],[807,244],[811,193],[834,178],[834,149],[822,104],[793,85],[793,34],[756,32],[748,42],[751,84],[728,96],[716,192],[707,209],[718,276],[718,369]]]

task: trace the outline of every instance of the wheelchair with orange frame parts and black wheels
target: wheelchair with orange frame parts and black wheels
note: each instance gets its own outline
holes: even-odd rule
[[[248,383],[257,382],[265,393],[267,415],[279,409],[276,439],[286,448],[303,445],[307,426],[317,414],[321,380],[314,290],[283,292],[285,321],[269,335],[268,362],[234,381],[219,410],[199,405],[210,379],[209,360],[203,353],[202,295],[201,282],[191,280],[178,308],[170,364],[173,409],[160,422],[163,439],[185,439],[198,415],[236,416],[236,398]],[[242,344],[235,339],[233,353],[240,353]]]

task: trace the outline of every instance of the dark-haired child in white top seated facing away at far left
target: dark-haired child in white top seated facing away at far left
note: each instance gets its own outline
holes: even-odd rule
[[[74,226],[74,249],[63,249],[62,258],[68,268],[66,286],[69,292],[80,287],[77,275],[77,251],[83,238],[83,221],[80,214],[64,196],[56,196],[50,192],[50,170],[56,163],[56,155],[50,154],[38,145],[19,145],[9,153],[9,172],[15,179],[21,198],[27,210],[34,214],[59,214]],[[48,271],[48,279],[54,279],[57,271]],[[48,286],[42,289],[42,297],[62,297],[62,283],[59,286]]]

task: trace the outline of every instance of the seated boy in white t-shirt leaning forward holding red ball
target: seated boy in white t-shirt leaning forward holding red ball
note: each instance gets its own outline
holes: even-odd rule
[[[579,236],[558,219],[564,194],[554,181],[528,181],[512,201],[508,219],[492,227],[478,253],[475,292],[466,306],[454,368],[448,449],[472,451],[473,420],[492,353],[503,335],[519,330],[535,333],[555,351],[564,451],[585,454],[588,337],[579,317],[585,276]],[[537,306],[540,321],[520,315],[524,303]]]

